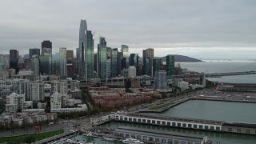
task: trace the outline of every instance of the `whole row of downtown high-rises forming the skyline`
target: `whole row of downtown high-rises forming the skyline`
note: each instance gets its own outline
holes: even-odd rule
[[[129,54],[129,46],[111,48],[107,46],[106,38],[100,37],[97,53],[94,53],[94,34],[87,30],[86,20],[81,20],[78,41],[76,57],[74,50],[66,47],[58,48],[58,53],[53,54],[52,42],[49,40],[42,42],[41,49],[30,49],[23,58],[18,50],[10,50],[9,57],[1,54],[0,77],[17,78],[17,75],[24,75],[27,71],[31,71],[30,75],[34,76],[58,75],[62,79],[70,77],[86,80],[140,75],[153,77],[156,70],[166,70],[167,75],[176,74],[174,55],[167,55],[166,65],[163,65],[163,58],[155,58],[152,48],[143,50],[140,58],[138,54]]]

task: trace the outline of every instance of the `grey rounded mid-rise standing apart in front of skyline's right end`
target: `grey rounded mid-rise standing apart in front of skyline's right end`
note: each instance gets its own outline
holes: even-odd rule
[[[154,72],[154,90],[166,90],[166,71],[165,70],[156,70]]]

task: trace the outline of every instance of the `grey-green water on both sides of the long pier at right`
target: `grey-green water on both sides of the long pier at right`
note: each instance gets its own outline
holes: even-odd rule
[[[254,114],[254,112],[256,111],[255,105],[256,103],[248,102],[190,100],[187,102],[183,102],[178,106],[174,106],[170,108],[170,110],[166,110],[161,114],[154,113],[154,115],[180,118],[210,119],[226,122],[256,123],[256,115]],[[213,144],[217,142],[225,144],[256,143],[255,135],[229,134],[205,130],[187,130],[176,127],[174,128],[168,126],[152,126],[130,122],[106,122],[105,124],[102,124],[102,126],[110,128],[117,128],[119,126],[129,126],[134,128],[145,128],[150,130],[166,130],[183,134],[202,134],[206,135],[208,139],[212,140]]]

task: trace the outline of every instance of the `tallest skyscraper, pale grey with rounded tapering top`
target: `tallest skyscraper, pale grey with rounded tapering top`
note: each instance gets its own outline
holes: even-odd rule
[[[86,20],[81,20],[80,22],[80,29],[79,29],[79,46],[78,46],[78,74],[80,77],[85,77],[85,51],[86,51],[86,30],[87,30],[87,24]]]

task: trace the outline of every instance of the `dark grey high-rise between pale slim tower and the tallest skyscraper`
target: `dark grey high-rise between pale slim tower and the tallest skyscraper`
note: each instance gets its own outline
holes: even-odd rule
[[[66,50],[66,74],[74,75],[74,51]]]

